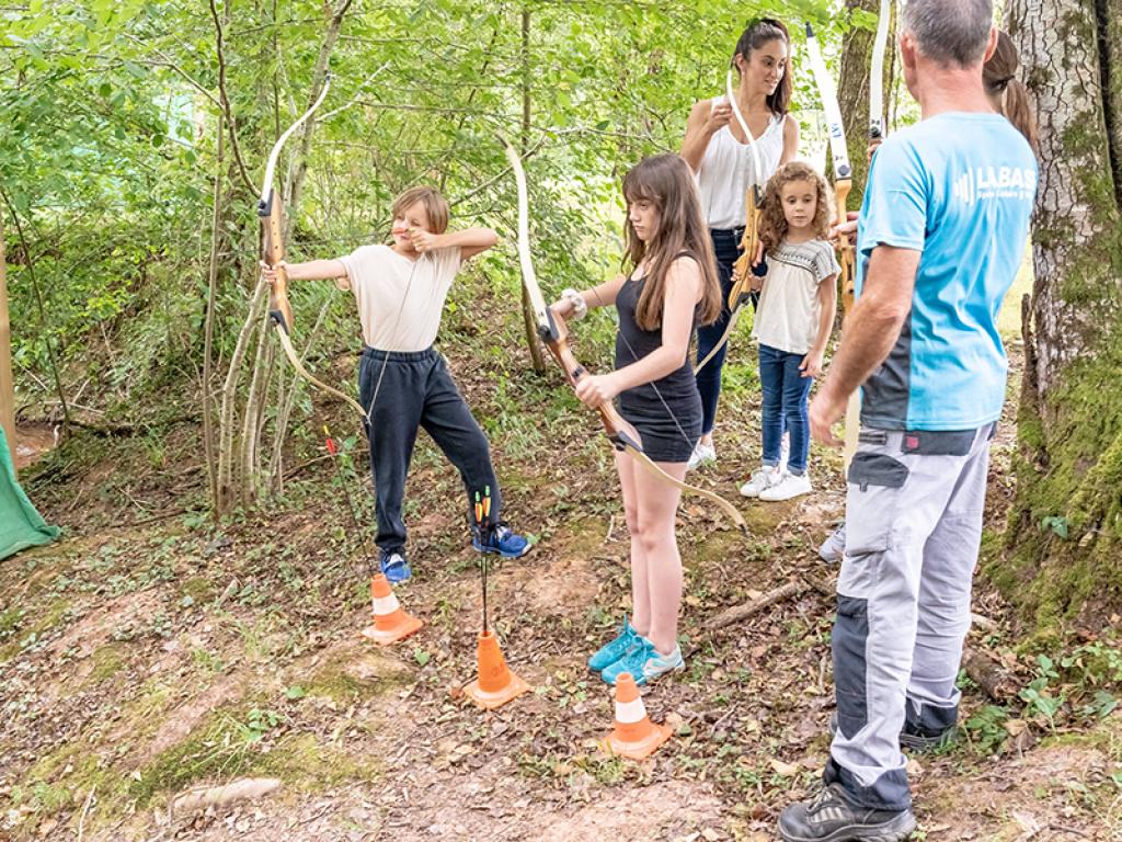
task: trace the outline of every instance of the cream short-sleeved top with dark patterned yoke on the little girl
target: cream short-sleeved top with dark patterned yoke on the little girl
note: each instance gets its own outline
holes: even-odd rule
[[[818,339],[818,285],[842,271],[826,240],[788,242],[767,255],[752,338],[788,354],[806,354]]]

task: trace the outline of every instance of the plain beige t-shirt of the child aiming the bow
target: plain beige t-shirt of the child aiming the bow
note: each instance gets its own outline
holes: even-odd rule
[[[444,299],[460,268],[460,247],[416,260],[389,246],[359,246],[339,258],[355,293],[362,341],[370,348],[419,351],[436,340]]]

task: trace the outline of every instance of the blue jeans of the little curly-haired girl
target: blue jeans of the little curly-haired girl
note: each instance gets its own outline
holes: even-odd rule
[[[766,345],[760,346],[760,385],[764,405],[761,425],[764,433],[764,465],[779,465],[783,430],[791,433],[791,452],[787,469],[792,474],[807,473],[807,454],[810,450],[810,421],[807,418],[807,397],[812,377],[799,370],[806,354],[788,354]]]

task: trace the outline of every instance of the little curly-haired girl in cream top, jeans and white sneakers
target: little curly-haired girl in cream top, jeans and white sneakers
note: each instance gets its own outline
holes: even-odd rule
[[[822,372],[840,271],[826,239],[833,205],[825,179],[801,162],[781,166],[764,192],[760,240],[767,275],[752,328],[760,344],[763,463],[741,486],[746,497],[790,500],[811,491],[807,399]],[[780,470],[784,429],[791,434],[791,454],[787,469]]]

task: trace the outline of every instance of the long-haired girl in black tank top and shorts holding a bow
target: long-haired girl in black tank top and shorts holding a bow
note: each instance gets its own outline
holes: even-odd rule
[[[701,429],[690,339],[699,323],[720,313],[717,267],[693,179],[680,157],[644,159],[625,177],[624,199],[624,257],[632,274],[582,293],[567,290],[553,309],[571,319],[586,308],[616,305],[616,368],[581,377],[577,395],[594,408],[618,397],[644,454],[680,482]],[[682,562],[674,537],[681,492],[627,452],[616,452],[616,470],[632,536],[633,614],[588,665],[608,684],[622,672],[646,684],[684,667],[678,646]]]

